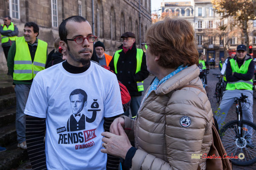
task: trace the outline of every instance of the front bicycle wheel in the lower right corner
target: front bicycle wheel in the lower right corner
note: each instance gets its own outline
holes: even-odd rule
[[[247,125],[245,127],[244,125]],[[248,127],[252,129],[249,135]],[[227,156],[238,156],[230,159],[233,164],[248,166],[256,162],[256,125],[246,120],[241,121],[242,134],[238,138],[238,120],[228,122],[221,128],[221,141],[227,152]]]

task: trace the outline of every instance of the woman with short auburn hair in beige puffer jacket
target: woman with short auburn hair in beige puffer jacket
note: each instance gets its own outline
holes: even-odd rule
[[[132,170],[205,170],[212,110],[198,77],[193,28],[186,20],[166,19],[148,28],[146,41],[148,71],[157,78],[136,119],[121,116],[111,133],[102,133],[102,152],[122,157]]]

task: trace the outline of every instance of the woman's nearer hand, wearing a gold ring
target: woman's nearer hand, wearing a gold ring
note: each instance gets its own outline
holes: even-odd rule
[[[105,136],[102,138],[102,141],[105,142],[102,144],[102,146],[105,147],[105,149],[101,149],[100,151],[102,153],[108,153],[110,155],[125,159],[126,153],[132,147],[132,145],[128,139],[128,136],[125,134],[125,130],[123,129],[121,123],[118,123],[117,128],[120,136],[109,132],[103,132],[101,134],[102,136]]]

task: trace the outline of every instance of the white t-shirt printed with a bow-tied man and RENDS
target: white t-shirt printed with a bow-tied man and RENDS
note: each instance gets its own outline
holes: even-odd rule
[[[79,123],[73,114],[77,105],[70,102],[74,90],[87,94]],[[46,118],[48,170],[105,170],[107,154],[100,152],[101,133],[104,117],[123,113],[119,84],[115,74],[93,62],[81,74],[71,74],[59,63],[36,75],[24,113]],[[81,128],[74,130],[76,126]]]

